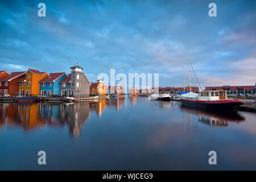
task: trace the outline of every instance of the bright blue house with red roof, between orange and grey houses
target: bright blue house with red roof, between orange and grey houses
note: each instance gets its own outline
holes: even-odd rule
[[[67,77],[67,73],[50,73],[49,76],[39,81],[40,96],[59,96],[60,95],[60,81]]]

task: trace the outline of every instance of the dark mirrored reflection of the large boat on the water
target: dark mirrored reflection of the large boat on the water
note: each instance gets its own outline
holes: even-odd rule
[[[199,122],[205,123],[210,126],[225,127],[228,126],[228,122],[240,123],[245,121],[242,115],[238,114],[237,111],[225,112],[210,109],[201,109],[196,107],[189,107],[181,105],[181,110],[186,113],[191,113],[199,116]]]

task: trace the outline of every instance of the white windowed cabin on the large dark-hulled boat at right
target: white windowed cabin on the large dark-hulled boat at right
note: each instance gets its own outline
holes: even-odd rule
[[[215,100],[227,100],[226,90],[209,90],[199,92],[198,100],[201,101],[215,101]]]

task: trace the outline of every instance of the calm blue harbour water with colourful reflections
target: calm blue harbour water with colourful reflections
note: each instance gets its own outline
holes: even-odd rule
[[[0,103],[0,169],[256,169],[256,114],[118,98]],[[38,165],[38,151],[47,165]],[[217,152],[217,165],[208,152]]]

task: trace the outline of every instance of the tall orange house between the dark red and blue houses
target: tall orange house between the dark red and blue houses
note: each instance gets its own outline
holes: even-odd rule
[[[40,83],[39,81],[49,76],[47,72],[39,72],[35,69],[28,69],[26,77],[18,80],[20,96],[39,96]]]

